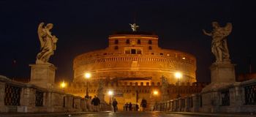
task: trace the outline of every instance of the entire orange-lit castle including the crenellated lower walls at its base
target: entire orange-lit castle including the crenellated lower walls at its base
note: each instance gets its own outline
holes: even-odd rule
[[[99,80],[103,80],[105,101],[116,98],[119,108],[126,102],[140,103],[143,98],[150,105],[162,100],[162,94],[171,99],[177,94],[199,93],[203,85],[196,83],[195,56],[160,48],[158,39],[154,32],[114,32],[108,37],[108,48],[75,57],[74,79],[65,90],[85,97],[88,85],[93,97],[97,95]],[[90,79],[84,78],[86,72],[91,73]],[[182,73],[180,80],[175,77],[176,72]],[[167,82],[165,92],[161,90],[161,78]],[[108,96],[108,91],[113,91],[113,96]],[[159,94],[154,95],[153,91]]]

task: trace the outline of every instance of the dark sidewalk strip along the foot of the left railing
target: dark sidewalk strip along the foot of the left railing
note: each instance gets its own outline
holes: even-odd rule
[[[70,112],[70,113],[0,113],[0,117],[32,117],[32,116],[68,116],[77,114],[90,114],[90,113],[110,113],[111,111],[101,111],[101,112]]]

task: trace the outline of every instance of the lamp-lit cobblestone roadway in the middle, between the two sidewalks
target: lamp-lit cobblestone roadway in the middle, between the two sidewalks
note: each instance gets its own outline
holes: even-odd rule
[[[117,112],[117,113],[93,113],[84,115],[73,115],[72,117],[203,117],[189,116],[172,113],[156,113],[156,112]]]

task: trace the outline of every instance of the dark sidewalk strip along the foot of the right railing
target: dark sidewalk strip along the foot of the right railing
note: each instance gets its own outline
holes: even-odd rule
[[[232,117],[256,117],[256,113],[199,113],[199,112],[162,112],[158,113],[172,113],[172,114],[183,114],[190,116],[232,116]]]

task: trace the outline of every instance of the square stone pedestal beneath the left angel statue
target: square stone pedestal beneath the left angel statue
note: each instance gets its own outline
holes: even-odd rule
[[[42,88],[53,88],[56,67],[53,64],[30,64],[30,83]]]

